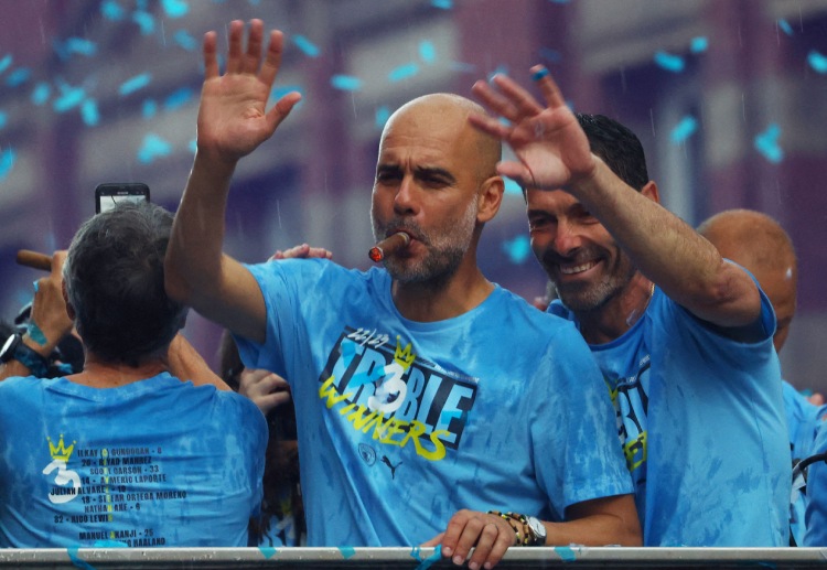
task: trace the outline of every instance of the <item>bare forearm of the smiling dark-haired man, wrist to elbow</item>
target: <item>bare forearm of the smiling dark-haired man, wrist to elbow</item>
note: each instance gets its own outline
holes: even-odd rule
[[[647,192],[656,192],[654,184]],[[603,224],[632,262],[680,305],[721,326],[753,323],[758,289],[749,276],[656,200],[619,179],[601,160],[572,194]]]

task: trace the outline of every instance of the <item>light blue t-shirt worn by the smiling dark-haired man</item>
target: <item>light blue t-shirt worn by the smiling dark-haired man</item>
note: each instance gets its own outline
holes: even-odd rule
[[[775,319],[735,342],[655,289],[621,337],[592,345],[610,385],[645,546],[787,546],[791,462]],[[561,302],[549,312],[574,320]]]

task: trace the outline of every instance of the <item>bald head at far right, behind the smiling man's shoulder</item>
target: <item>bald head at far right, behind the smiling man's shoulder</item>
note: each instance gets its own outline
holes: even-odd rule
[[[798,281],[798,264],[790,236],[772,217],[751,209],[716,214],[704,222],[698,232],[722,257],[755,276],[775,309],[778,324],[773,343],[775,349],[781,351],[795,315]]]

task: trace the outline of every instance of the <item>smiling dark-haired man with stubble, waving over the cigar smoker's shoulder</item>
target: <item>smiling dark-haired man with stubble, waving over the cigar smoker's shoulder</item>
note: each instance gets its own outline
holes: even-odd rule
[[[786,546],[791,465],[770,300],[659,205],[643,148],[576,116],[545,67],[546,106],[507,76],[472,123],[507,142],[531,248],[615,404],[646,546]]]

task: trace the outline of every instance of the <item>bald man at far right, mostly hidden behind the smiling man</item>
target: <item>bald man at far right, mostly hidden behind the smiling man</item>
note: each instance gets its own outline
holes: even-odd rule
[[[775,310],[777,325],[773,335],[775,351],[781,352],[790,334],[796,306],[798,262],[793,241],[772,217],[751,209],[728,209],[716,214],[698,232],[718,248],[721,257],[748,269],[758,280]],[[793,464],[813,453],[815,438],[827,406],[810,404],[790,383],[783,383],[784,411],[790,429]],[[799,483],[803,483],[801,481]],[[805,534],[804,497],[794,492],[791,506],[791,538],[802,545]]]

